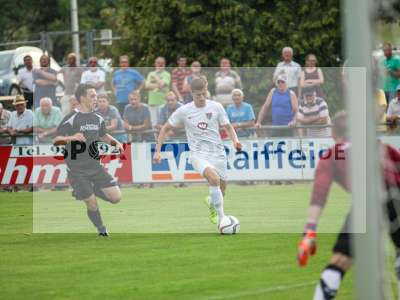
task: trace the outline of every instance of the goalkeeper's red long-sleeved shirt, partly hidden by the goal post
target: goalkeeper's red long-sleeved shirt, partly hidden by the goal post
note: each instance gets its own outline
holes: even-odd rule
[[[386,186],[400,186],[400,152],[390,145],[380,144],[383,159],[381,167]],[[350,144],[335,144],[321,156],[315,170],[311,204],[324,206],[333,182],[344,190],[350,191],[347,159],[350,156]]]

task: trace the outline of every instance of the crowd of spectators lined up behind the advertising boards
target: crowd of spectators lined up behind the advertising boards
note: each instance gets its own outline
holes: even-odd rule
[[[400,120],[400,57],[392,46],[383,47],[384,58],[379,62],[380,86],[376,101],[379,119],[391,124]],[[90,57],[86,67],[77,67],[76,55],[67,56],[67,64],[56,72],[50,58],[42,55],[40,67],[33,68],[32,57],[24,57],[25,67],[19,70],[21,95],[13,101],[14,110],[0,103],[0,144],[29,145],[51,143],[63,117],[79,106],[74,97],[80,83],[92,85],[97,92],[96,111],[103,117],[107,131],[121,142],[154,141],[161,126],[180,106],[192,101],[190,84],[194,78],[213,80],[212,101],[221,103],[239,137],[265,136],[262,124],[270,116],[272,128],[268,136],[329,137],[330,113],[325,82],[317,57],[309,54],[305,66],[293,60],[290,47],[282,49],[282,61],[273,73],[273,86],[255,114],[252,99],[243,92],[243,83],[228,58],[220,60],[214,78],[207,78],[199,61],[188,66],[185,56],[177,58],[177,66],[168,72],[166,60],[157,57],[154,69],[144,76],[130,66],[129,57],[119,58],[119,68],[107,80],[106,72]],[[56,95],[58,75],[63,77],[64,93]],[[107,82],[110,91],[107,91]],[[145,101],[142,101],[145,99]],[[184,138],[184,133],[171,131],[171,139]],[[221,132],[224,137],[224,132]]]

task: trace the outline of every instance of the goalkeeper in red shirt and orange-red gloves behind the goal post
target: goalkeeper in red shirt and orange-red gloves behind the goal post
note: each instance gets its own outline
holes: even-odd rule
[[[298,263],[305,266],[310,255],[316,253],[316,231],[319,217],[327,201],[330,186],[333,182],[346,191],[350,191],[347,172],[350,144],[346,137],[347,118],[344,112],[335,115],[333,119],[333,138],[336,144],[327,150],[318,163],[311,203],[308,211],[304,235],[299,243]],[[400,205],[400,152],[389,145],[380,143],[381,168],[387,192],[386,212],[390,222],[391,238],[397,250],[396,274],[400,275],[400,221],[396,206]],[[350,213],[348,214],[336,243],[329,264],[322,271],[320,281],[314,292],[314,300],[334,299],[344,274],[352,264],[352,249],[350,233]]]

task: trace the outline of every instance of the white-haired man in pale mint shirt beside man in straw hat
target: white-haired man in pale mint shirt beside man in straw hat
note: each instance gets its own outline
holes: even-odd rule
[[[33,117],[33,131],[37,133],[39,143],[51,143],[63,114],[53,106],[50,98],[40,99],[40,107],[36,108]]]

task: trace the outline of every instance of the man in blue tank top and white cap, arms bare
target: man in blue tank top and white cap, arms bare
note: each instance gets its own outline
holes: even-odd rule
[[[296,94],[288,89],[287,79],[283,75],[279,75],[276,80],[277,88],[272,88],[268,93],[265,103],[258,113],[256,127],[260,128],[264,117],[271,106],[272,125],[288,126],[293,128],[296,126],[296,118],[298,113],[298,101]],[[292,136],[293,130],[286,128],[273,129],[272,136]]]

